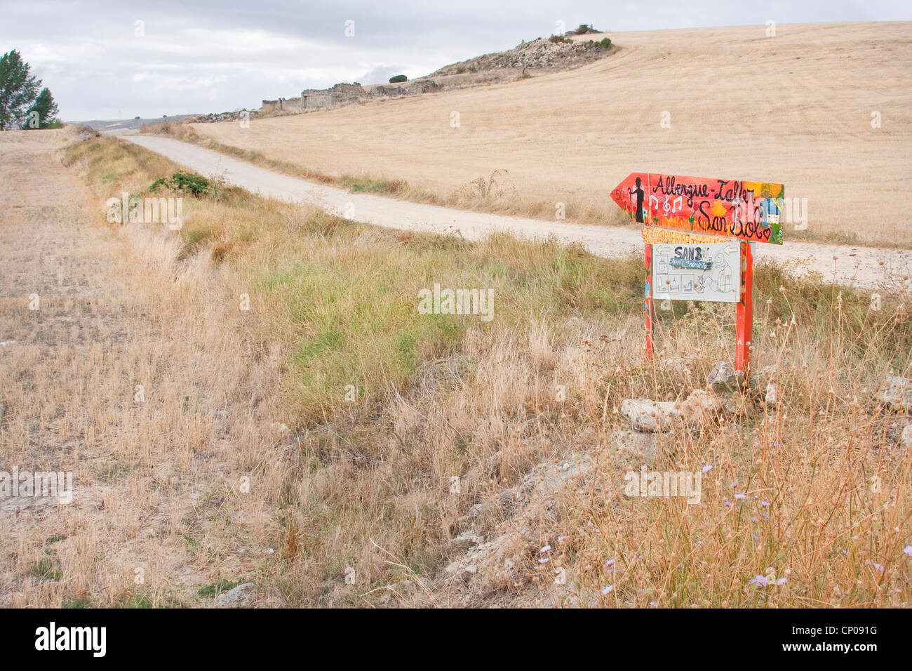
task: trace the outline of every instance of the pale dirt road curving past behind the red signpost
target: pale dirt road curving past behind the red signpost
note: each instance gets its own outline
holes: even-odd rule
[[[186,142],[146,135],[125,136],[153,152],[206,176],[220,175],[228,183],[288,202],[320,204],[327,211],[349,219],[388,228],[451,233],[458,231],[468,239],[478,239],[492,231],[511,231],[530,237],[555,236],[564,243],[581,243],[601,257],[626,254],[642,248],[642,238],[634,228],[546,222],[517,216],[489,215],[455,210],[436,205],[415,204],[372,194],[353,194],[342,189],[273,173],[223,154]],[[606,199],[608,195],[605,195]],[[772,258],[796,270],[816,271],[861,287],[909,288],[912,250],[881,249],[862,246],[790,243],[783,246],[760,245],[758,259]]]

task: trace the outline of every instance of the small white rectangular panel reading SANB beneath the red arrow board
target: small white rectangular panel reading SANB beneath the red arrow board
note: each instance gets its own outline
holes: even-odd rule
[[[653,245],[652,298],[736,303],[741,289],[741,243]]]

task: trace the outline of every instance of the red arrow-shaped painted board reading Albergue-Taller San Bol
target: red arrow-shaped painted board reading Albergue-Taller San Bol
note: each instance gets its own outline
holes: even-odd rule
[[[611,198],[648,226],[782,245],[785,187],[779,183],[630,173]]]

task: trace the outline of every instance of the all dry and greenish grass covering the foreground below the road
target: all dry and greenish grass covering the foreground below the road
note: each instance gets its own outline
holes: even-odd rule
[[[175,169],[111,140],[75,145],[67,163],[102,197]],[[660,310],[650,366],[636,257],[378,230],[234,189],[187,200],[180,242],[43,215],[47,244],[91,268],[86,290],[115,297],[113,314],[4,304],[16,331],[3,337],[31,353],[0,359],[0,456],[25,467],[44,446],[66,465],[76,450],[88,490],[16,519],[3,548],[14,603],[199,604],[201,586],[237,580],[288,605],[909,603],[912,457],[899,420],[869,403],[883,372],[909,373],[907,296],[885,292],[872,311],[848,289],[759,267],[754,360],[775,366],[778,404],[736,394],[692,432],[635,438],[621,401],[702,387],[731,358],[733,308]],[[7,240],[27,239],[41,219],[27,213]],[[50,282],[36,258],[12,257],[20,281]],[[494,319],[418,314],[417,290],[434,283],[492,288]],[[51,315],[67,326],[24,321]],[[702,503],[625,497],[623,474],[642,464],[711,465]],[[54,529],[67,538],[51,542]],[[747,584],[768,569],[788,582]]]

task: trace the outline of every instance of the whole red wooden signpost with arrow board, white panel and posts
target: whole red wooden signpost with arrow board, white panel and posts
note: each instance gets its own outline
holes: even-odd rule
[[[643,224],[646,357],[652,361],[654,299],[737,305],[735,370],[751,362],[751,243],[782,245],[780,183],[630,173],[611,198]]]

